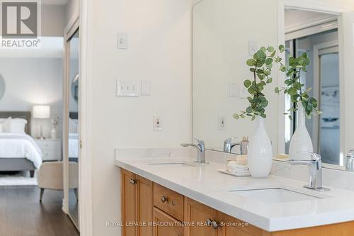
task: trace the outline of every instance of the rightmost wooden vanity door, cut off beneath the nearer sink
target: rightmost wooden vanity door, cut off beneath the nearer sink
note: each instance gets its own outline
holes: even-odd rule
[[[268,236],[270,232],[249,225],[224,213],[217,213],[219,222],[219,236]]]

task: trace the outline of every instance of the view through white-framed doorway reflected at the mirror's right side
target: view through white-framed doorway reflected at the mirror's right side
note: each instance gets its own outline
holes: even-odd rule
[[[312,28],[289,30],[299,18],[328,20]],[[321,116],[306,120],[314,152],[321,154],[324,163],[343,166],[339,142],[338,20],[336,16],[326,13],[290,9],[285,10],[285,29],[288,29],[285,34],[288,55],[298,57],[306,52],[311,62],[300,78],[302,84],[312,88],[308,94],[317,99],[322,112]],[[290,107],[292,102],[289,96],[285,96],[285,111]],[[285,118],[285,153],[289,153],[290,140],[298,125],[297,114],[292,115],[292,120]]]

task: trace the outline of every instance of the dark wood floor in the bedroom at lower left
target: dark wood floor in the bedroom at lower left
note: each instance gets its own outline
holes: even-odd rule
[[[45,190],[42,203],[37,186],[0,187],[1,236],[75,236],[72,221],[62,211],[62,191]]]

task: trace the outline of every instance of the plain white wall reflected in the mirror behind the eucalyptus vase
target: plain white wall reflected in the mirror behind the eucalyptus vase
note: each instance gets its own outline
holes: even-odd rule
[[[204,0],[195,7],[193,128],[194,136],[205,140],[207,147],[222,147],[227,137],[254,133],[256,122],[248,117],[232,118],[234,113],[245,110],[249,102],[229,97],[229,84],[238,82],[244,86],[245,79],[253,79],[246,65],[251,57],[249,40],[256,40],[259,47],[278,47],[276,2]],[[262,21],[267,22],[266,27]],[[277,72],[274,67],[273,84],[265,89],[269,101],[265,123],[274,152],[278,149],[278,95],[274,93]],[[218,116],[226,116],[227,130],[218,130]]]

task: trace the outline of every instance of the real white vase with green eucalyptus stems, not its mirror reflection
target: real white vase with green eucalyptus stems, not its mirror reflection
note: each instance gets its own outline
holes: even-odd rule
[[[279,52],[284,52],[285,47],[280,46]],[[265,108],[268,106],[268,99],[263,94],[267,84],[271,84],[273,64],[281,62],[281,58],[276,56],[277,50],[274,47],[261,47],[252,58],[246,61],[252,73],[252,79],[246,79],[244,86],[249,91],[247,97],[249,106],[246,111],[234,114],[235,119],[250,117],[251,120],[257,118],[257,128],[255,135],[249,143],[248,162],[251,176],[266,177],[270,173],[273,162],[273,150],[267,131],[264,127],[266,118]],[[285,72],[285,66],[281,64],[279,69]]]

